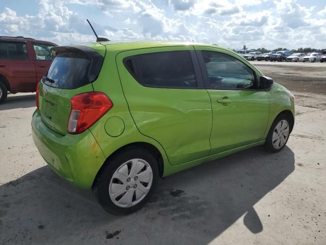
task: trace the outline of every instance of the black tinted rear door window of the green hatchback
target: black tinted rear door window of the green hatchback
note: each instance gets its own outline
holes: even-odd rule
[[[157,87],[196,87],[191,55],[188,51],[161,52],[136,56],[140,82]]]

